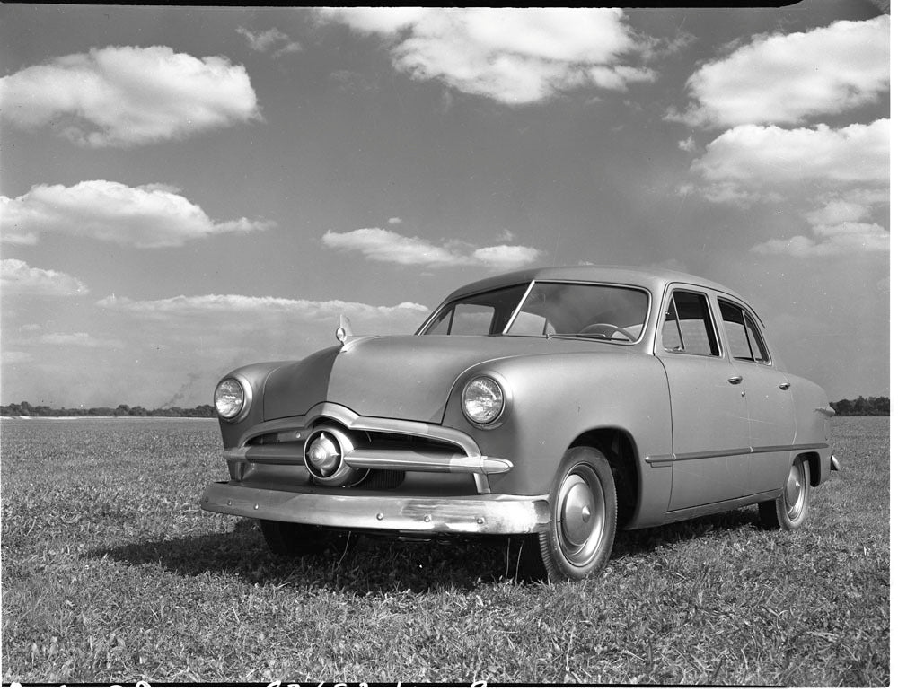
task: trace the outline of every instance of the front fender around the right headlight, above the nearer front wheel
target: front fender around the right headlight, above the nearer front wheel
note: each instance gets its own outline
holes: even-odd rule
[[[500,424],[475,427],[462,414],[465,383],[496,376],[511,398]],[[650,467],[648,454],[672,450],[670,397],[664,368],[652,355],[556,354],[481,363],[462,373],[446,406],[444,424],[469,433],[483,454],[510,459],[515,468],[489,477],[494,493],[548,494],[559,462],[578,436],[617,428],[632,436],[639,505],[666,510],[670,465]]]

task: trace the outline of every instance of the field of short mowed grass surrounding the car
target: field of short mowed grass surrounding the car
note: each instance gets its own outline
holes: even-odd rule
[[[507,540],[270,556],[198,508],[215,421],[0,430],[4,683],[890,682],[887,418],[835,420],[797,533],[755,508],[624,532],[573,584],[520,581]]]

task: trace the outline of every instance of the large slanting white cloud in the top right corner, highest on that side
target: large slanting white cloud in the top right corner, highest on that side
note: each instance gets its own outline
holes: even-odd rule
[[[889,89],[889,29],[884,14],[755,36],[692,74],[691,105],[671,118],[693,126],[794,125],[871,104]]]

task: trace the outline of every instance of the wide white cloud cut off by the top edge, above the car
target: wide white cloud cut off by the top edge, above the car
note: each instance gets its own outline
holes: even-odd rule
[[[508,104],[580,87],[623,91],[654,71],[625,57],[647,50],[621,10],[606,8],[330,8],[325,20],[374,33],[393,66]]]

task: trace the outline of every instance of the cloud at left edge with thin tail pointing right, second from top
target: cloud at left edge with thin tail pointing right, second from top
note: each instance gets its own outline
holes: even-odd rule
[[[182,246],[221,233],[259,232],[275,224],[246,218],[216,223],[165,185],[128,187],[92,180],[72,187],[36,185],[14,199],[0,196],[4,241],[36,242],[40,235],[74,235],[136,248]]]

